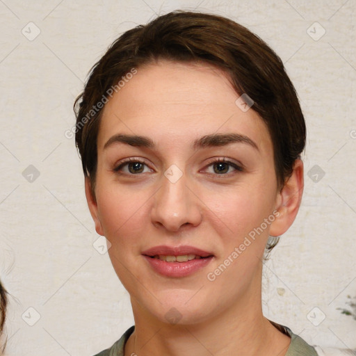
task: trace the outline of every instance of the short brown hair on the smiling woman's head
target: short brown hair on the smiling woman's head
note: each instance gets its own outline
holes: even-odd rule
[[[218,15],[177,10],[123,33],[92,67],[76,99],[76,146],[94,192],[97,135],[106,94],[132,69],[166,59],[224,70],[238,95],[247,94],[268,127],[278,186],[305,147],[305,120],[282,60],[257,35]],[[102,106],[102,105],[100,105]],[[93,110],[95,108],[95,110]],[[90,113],[90,115],[88,114]]]

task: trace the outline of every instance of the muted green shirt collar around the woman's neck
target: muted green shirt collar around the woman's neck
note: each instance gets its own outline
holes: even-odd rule
[[[298,337],[298,335],[293,334],[288,327],[276,323],[273,323],[273,325],[291,337],[291,344],[286,352],[286,356],[317,356],[315,348],[309,346],[302,338]],[[125,343],[133,330],[135,330],[134,325],[126,330],[120,340],[116,341],[111,348],[107,348],[95,356],[124,356]]]

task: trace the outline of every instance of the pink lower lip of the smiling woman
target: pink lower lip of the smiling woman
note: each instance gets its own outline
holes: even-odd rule
[[[191,259],[191,261],[186,262],[167,262],[145,255],[143,257],[145,257],[146,261],[157,273],[165,277],[186,277],[193,275],[197,270],[207,266],[213,259],[213,256],[211,256],[204,259]]]

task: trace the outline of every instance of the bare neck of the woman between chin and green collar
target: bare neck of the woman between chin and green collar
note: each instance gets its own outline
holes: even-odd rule
[[[259,297],[250,298],[248,294],[234,309],[220,311],[209,321],[186,325],[159,321],[131,300],[135,331],[127,341],[124,355],[284,356],[291,339],[264,318],[261,293],[254,296]]]

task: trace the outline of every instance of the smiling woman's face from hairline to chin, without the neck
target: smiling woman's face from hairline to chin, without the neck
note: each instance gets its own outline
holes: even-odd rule
[[[134,313],[199,323],[259,307],[280,194],[268,129],[236,99],[220,70],[162,60],[104,107],[89,205]]]

